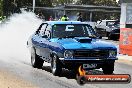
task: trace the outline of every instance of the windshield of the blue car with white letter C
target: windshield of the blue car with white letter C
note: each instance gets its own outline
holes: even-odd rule
[[[95,32],[86,24],[56,24],[53,25],[53,37],[95,37]]]

